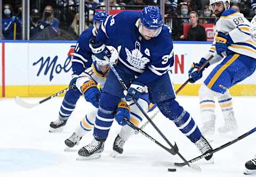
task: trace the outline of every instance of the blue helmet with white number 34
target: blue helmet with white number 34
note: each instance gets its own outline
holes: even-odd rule
[[[141,12],[141,23],[147,29],[156,30],[163,25],[162,14],[157,6],[146,6]]]

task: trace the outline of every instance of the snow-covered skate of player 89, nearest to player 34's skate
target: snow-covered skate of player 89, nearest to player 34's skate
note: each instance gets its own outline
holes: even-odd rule
[[[209,141],[213,141],[213,136],[215,132],[215,120],[216,116],[212,116],[208,121],[203,123],[203,127],[200,129],[203,136]]]

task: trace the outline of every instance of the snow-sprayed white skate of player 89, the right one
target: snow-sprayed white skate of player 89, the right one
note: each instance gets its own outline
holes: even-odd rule
[[[235,119],[234,112],[231,111],[227,117],[225,117],[225,124],[218,128],[220,136],[223,137],[237,137],[238,125]]]

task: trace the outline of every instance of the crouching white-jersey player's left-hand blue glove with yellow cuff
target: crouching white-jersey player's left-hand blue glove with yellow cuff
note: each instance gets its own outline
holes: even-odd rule
[[[85,100],[99,108],[100,90],[97,88],[97,84],[93,80],[87,81],[82,85],[81,90]]]

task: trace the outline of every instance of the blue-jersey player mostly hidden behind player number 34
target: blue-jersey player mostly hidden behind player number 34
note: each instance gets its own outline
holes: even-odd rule
[[[92,52],[89,47],[89,40],[95,39],[97,36],[100,24],[103,20],[107,18],[108,14],[105,11],[96,12],[93,16],[93,27],[86,29],[82,32],[77,40],[75,47],[74,57],[72,58],[72,79],[69,83],[69,86],[74,85],[76,78],[81,74],[85,69],[90,68],[92,64]],[[59,119],[50,123],[50,132],[61,131],[63,126],[66,125],[67,120],[71,113],[76,107],[76,102],[81,96],[81,92],[77,88],[73,88],[67,91],[59,111]],[[86,96],[85,99],[94,99],[93,97]],[[99,99],[99,98],[95,98]],[[90,100],[88,100],[90,102]],[[94,106],[98,107],[98,102]]]

